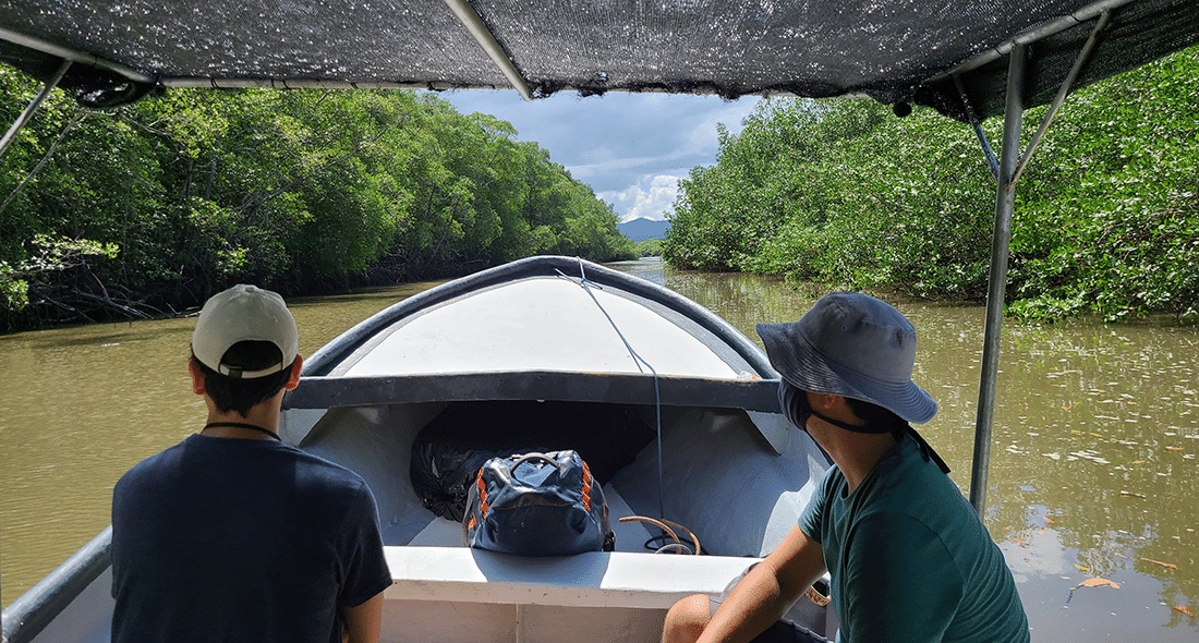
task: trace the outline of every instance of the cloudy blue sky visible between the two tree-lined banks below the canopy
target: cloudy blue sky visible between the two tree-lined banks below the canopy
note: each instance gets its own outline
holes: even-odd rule
[[[662,220],[677,181],[695,166],[716,163],[716,125],[741,131],[759,98],[628,94],[579,97],[560,91],[523,101],[513,90],[444,91],[458,112],[511,122],[517,139],[535,140],[555,163],[591,186],[621,221]]]

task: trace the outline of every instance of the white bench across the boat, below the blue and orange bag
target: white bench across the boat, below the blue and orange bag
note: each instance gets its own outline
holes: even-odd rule
[[[588,552],[532,558],[470,547],[384,547],[392,584],[384,631],[396,643],[657,641],[667,611],[718,596],[759,558]],[[801,599],[788,613],[836,632],[831,608]],[[570,626],[564,626],[571,624]]]

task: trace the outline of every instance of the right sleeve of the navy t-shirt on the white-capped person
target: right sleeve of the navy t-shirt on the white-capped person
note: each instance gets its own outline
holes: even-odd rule
[[[342,536],[342,569],[345,575],[338,603],[356,607],[391,587],[391,571],[384,558],[379,530],[379,510],[366,485],[347,512]]]

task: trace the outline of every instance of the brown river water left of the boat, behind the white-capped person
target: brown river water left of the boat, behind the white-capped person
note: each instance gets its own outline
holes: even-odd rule
[[[289,302],[300,353],[434,283]],[[109,523],[113,485],[204,426],[187,374],[194,319],[0,336],[0,603]]]

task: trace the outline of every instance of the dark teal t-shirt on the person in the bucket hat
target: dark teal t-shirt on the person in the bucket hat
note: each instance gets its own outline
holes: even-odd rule
[[[1002,552],[906,434],[846,494],[836,467],[800,516],[824,547],[842,643],[1028,642]]]

